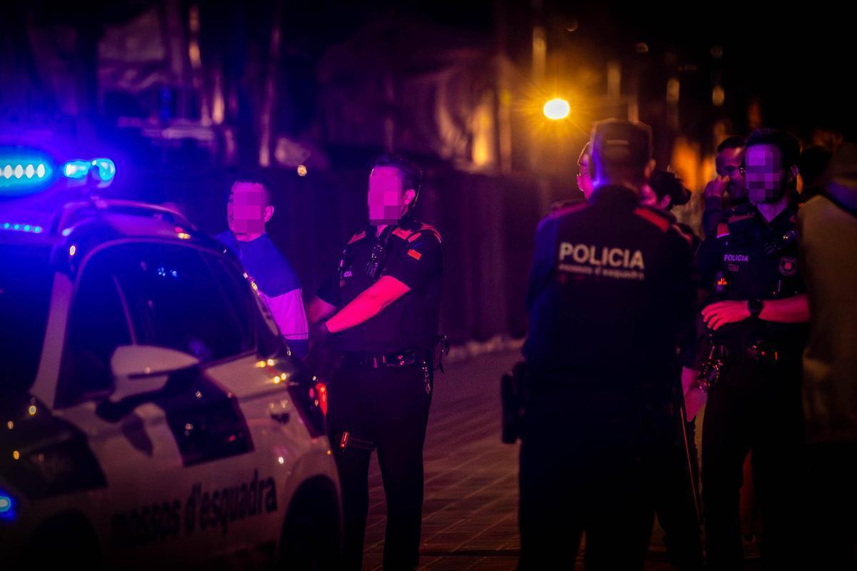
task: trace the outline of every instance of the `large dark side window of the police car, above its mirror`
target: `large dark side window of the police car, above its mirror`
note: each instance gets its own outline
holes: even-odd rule
[[[221,360],[255,348],[252,299],[214,254],[129,244],[102,254],[127,303],[135,342]]]

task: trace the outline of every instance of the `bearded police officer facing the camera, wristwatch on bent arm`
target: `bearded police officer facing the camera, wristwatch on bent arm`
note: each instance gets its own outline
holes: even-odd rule
[[[699,251],[710,291],[702,316],[718,359],[702,445],[706,557],[712,568],[740,568],[742,464],[752,473],[762,511],[762,556],[794,562],[801,506],[800,355],[809,307],[798,269],[794,188],[800,147],[792,136],[759,129],[746,141],[742,167],[752,210],[728,219],[726,232]]]

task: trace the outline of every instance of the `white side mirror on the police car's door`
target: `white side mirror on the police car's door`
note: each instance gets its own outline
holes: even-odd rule
[[[181,351],[153,345],[123,345],[111,357],[111,372],[116,389],[113,402],[129,396],[162,390],[171,372],[200,364],[200,360]]]

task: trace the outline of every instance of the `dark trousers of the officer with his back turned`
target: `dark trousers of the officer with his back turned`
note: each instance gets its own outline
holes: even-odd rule
[[[654,519],[650,445],[633,403],[546,391],[528,404],[520,456],[520,569],[642,568]]]

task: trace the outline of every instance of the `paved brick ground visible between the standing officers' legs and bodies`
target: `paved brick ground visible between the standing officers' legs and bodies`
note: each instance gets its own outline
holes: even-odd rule
[[[518,445],[500,442],[500,375],[518,359],[518,352],[480,355],[449,364],[435,378],[424,454],[421,569],[500,571],[518,564]],[[365,571],[381,569],[386,509],[373,455]],[[656,527],[646,571],[672,568],[662,536]],[[583,568],[581,556],[575,567]]]

